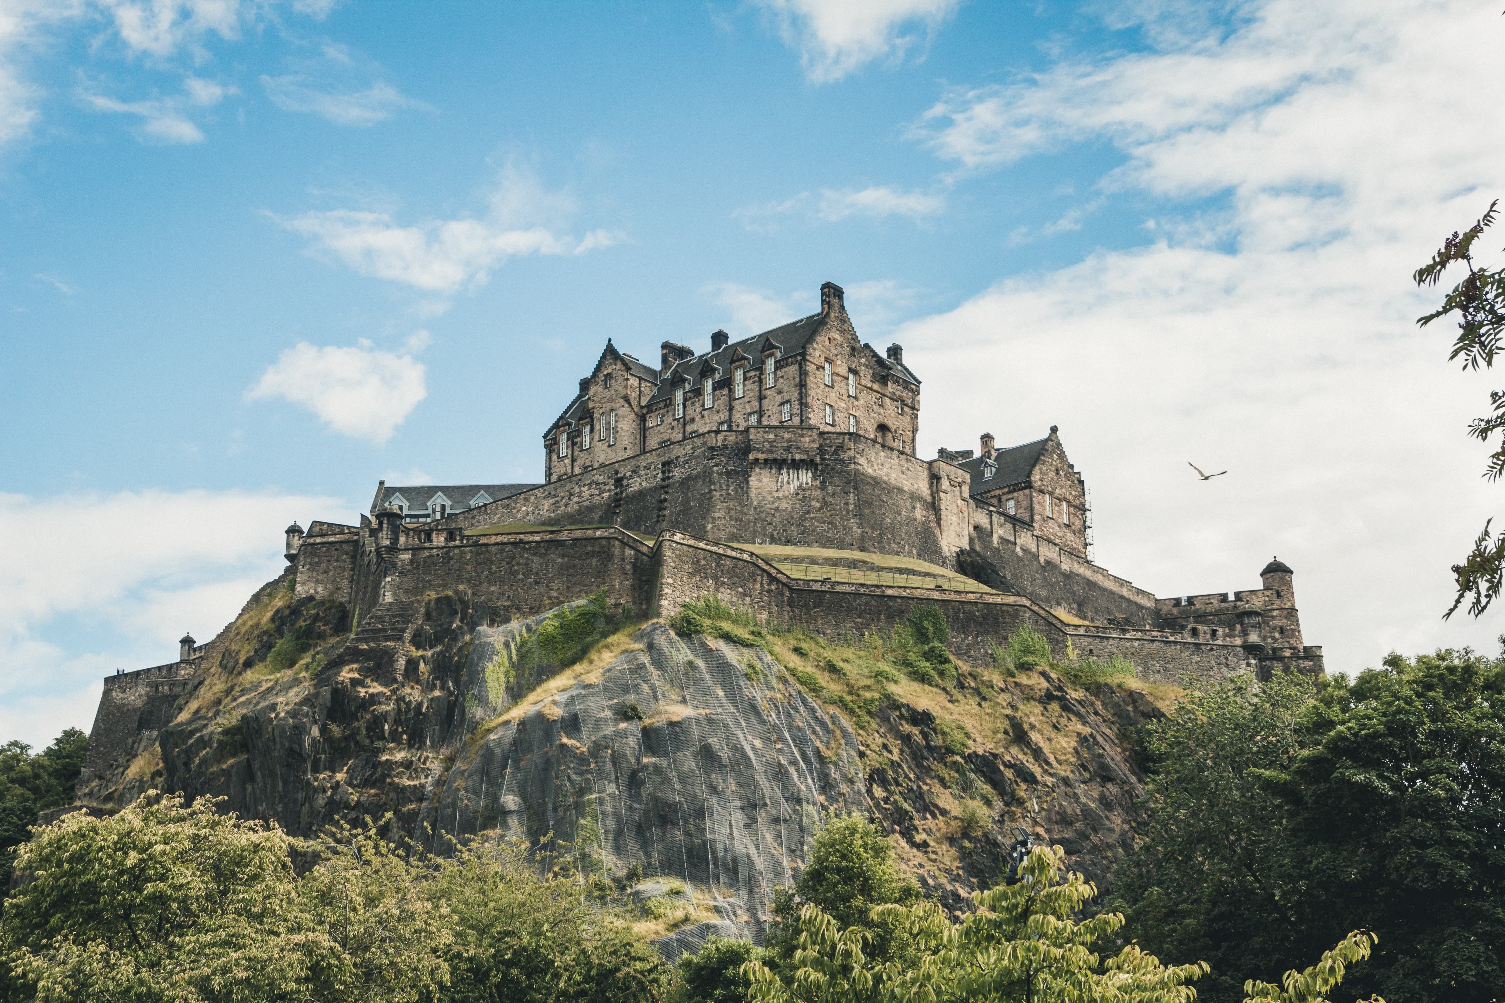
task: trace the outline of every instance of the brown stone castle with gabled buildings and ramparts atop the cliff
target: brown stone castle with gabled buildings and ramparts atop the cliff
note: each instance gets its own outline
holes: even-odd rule
[[[287,528],[293,586],[343,603],[357,638],[406,636],[441,592],[507,620],[605,588],[655,617],[719,594],[837,638],[935,601],[977,662],[1028,624],[1058,657],[1121,656],[1151,680],[1323,672],[1290,567],[1272,559],[1257,589],[1156,598],[1090,559],[1085,481],[1055,426],[926,460],[920,388],[900,346],[858,338],[832,283],[819,313],[716,331],[703,353],[665,341],[656,368],[608,340],[543,433],[542,483],[381,483],[358,525]],[[123,768],[218,644],[185,638],[178,662],[107,677],[86,771]]]

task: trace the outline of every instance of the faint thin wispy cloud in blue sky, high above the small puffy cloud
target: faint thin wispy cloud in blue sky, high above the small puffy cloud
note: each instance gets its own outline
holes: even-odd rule
[[[390,84],[378,63],[345,45],[328,42],[319,59],[298,60],[293,71],[260,78],[266,96],[283,111],[316,114],[336,125],[367,126],[403,108],[427,108]]]

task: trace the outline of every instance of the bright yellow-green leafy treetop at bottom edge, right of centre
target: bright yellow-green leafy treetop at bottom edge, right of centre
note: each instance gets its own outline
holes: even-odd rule
[[[1130,944],[1111,958],[1094,946],[1123,925],[1117,914],[1078,920],[1096,895],[1078,874],[1063,880],[1064,851],[1034,850],[1020,881],[974,895],[977,910],[960,923],[935,902],[886,905],[873,919],[897,922],[914,941],[914,959],[871,955],[871,935],[817,905],[799,916],[792,973],[752,961],[746,973],[762,1003],[927,1003],[1020,1000],[1023,1003],[1192,1003],[1187,985],[1204,964],[1168,968]]]

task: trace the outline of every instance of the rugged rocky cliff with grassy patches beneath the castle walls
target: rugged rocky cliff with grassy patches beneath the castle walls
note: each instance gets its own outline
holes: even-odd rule
[[[828,811],[877,818],[953,908],[996,880],[1014,824],[1099,883],[1132,844],[1129,740],[1159,713],[1142,690],[968,666],[926,684],[880,641],[620,617],[597,600],[498,623],[456,592],[352,630],[272,583],[81,800],[158,786],[299,835],[370,817],[438,851],[524,839],[582,881],[679,883],[685,908],[653,931],[670,953],[760,937]]]

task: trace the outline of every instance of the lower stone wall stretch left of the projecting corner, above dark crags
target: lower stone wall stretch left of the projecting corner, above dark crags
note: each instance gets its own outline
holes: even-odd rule
[[[652,555],[616,528],[464,537],[399,550],[387,592],[400,601],[467,589],[495,614],[533,617],[605,588],[608,603],[643,614],[652,603]]]

